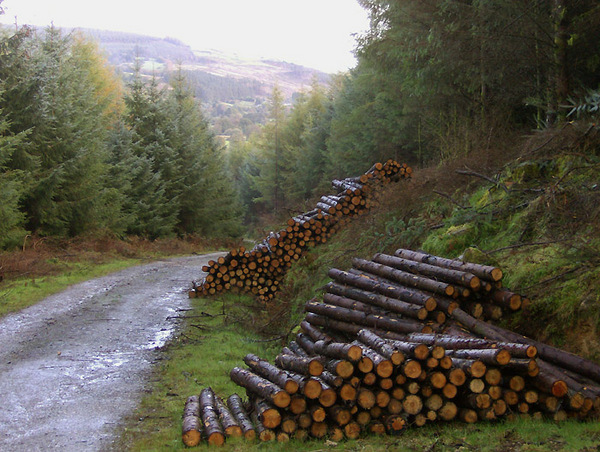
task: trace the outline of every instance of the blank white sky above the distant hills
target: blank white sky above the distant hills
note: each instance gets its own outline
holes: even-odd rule
[[[326,72],[354,67],[357,0],[4,0],[0,23],[173,37],[195,50],[266,57]]]

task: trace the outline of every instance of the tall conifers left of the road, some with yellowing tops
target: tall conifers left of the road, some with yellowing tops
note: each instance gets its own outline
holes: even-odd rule
[[[0,247],[27,233],[241,233],[226,162],[181,74],[125,86],[78,34],[0,42]]]

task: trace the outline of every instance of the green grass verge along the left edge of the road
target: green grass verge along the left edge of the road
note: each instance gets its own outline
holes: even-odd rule
[[[54,262],[53,264],[63,267],[57,275],[38,278],[22,277],[4,282],[0,286],[0,317],[34,305],[73,284],[140,265],[140,260],[115,260],[103,264],[89,262],[71,262],[68,265]]]

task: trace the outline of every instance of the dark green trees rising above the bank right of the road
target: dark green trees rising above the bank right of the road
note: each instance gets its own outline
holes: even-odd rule
[[[376,161],[454,158],[599,111],[595,0],[358,0],[358,63],[230,147],[242,202],[281,211]]]

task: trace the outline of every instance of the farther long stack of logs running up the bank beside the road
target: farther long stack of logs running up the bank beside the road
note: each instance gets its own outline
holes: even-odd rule
[[[262,300],[273,298],[292,262],[310,247],[325,243],[350,218],[375,205],[382,185],[411,174],[412,169],[406,164],[388,160],[375,164],[359,177],[334,180],[337,194],[322,196],[313,210],[290,218],[285,229],[271,232],[251,250],[240,247],[210,261],[202,268],[207,275],[194,284],[190,297],[234,289]]]

